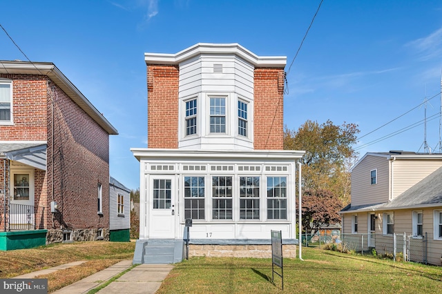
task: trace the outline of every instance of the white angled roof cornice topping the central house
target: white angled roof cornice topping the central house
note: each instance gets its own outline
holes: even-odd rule
[[[236,55],[255,67],[284,68],[285,56],[258,56],[238,43],[197,43],[175,54],[144,53],[146,64],[178,65],[198,55]]]

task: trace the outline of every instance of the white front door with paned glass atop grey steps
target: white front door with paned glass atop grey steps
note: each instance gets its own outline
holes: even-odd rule
[[[175,178],[153,175],[150,183],[149,237],[175,239]]]

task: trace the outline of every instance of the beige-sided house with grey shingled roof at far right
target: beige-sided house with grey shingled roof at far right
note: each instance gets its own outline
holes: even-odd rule
[[[352,168],[352,203],[340,213],[343,233],[362,234],[363,250],[393,253],[396,234],[396,251],[409,248],[404,257],[441,265],[442,154],[367,153]]]

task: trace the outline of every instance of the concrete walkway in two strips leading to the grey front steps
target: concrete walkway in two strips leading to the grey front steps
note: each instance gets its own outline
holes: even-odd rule
[[[115,275],[126,271],[132,266],[132,260],[123,260],[103,271],[99,271],[78,282],[70,284],[54,293],[79,294],[88,293],[93,288],[107,282]],[[140,264],[128,271],[117,280],[108,284],[98,293],[155,293],[160,288],[162,281],[169,275],[173,268],[168,264]]]

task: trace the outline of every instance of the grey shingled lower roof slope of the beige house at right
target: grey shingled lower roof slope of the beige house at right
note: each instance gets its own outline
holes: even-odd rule
[[[381,204],[347,206],[340,212],[363,212],[442,206],[442,167],[425,177],[392,201]]]

